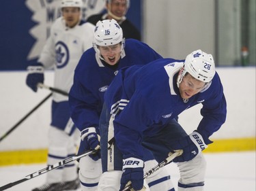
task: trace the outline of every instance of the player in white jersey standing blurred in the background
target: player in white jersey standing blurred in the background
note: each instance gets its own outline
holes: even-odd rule
[[[34,92],[38,90],[38,83],[44,83],[44,69],[54,69],[55,88],[70,91],[74,69],[83,52],[91,48],[94,34],[94,25],[81,20],[82,6],[82,0],[61,1],[62,16],[53,23],[38,63],[28,67],[26,83]],[[53,93],[51,117],[47,162],[55,164],[76,154],[80,136],[70,119],[68,97]],[[76,190],[79,185],[76,164],[70,162],[47,173],[46,183],[33,191]]]

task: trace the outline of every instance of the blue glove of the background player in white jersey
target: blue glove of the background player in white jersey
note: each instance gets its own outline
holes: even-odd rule
[[[28,75],[26,84],[34,92],[38,91],[38,83],[44,84],[44,67],[42,64],[31,65],[27,67]]]

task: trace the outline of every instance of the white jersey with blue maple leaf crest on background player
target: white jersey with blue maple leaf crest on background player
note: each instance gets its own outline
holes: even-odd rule
[[[70,91],[73,84],[74,69],[85,50],[92,47],[95,26],[81,21],[73,28],[66,27],[63,18],[57,18],[51,27],[51,35],[40,54],[38,63],[45,69],[54,69],[54,87]],[[56,102],[68,101],[68,97],[53,94]]]

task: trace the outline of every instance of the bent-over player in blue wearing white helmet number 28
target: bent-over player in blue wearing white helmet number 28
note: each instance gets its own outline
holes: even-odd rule
[[[197,50],[186,60],[162,58],[121,69],[104,99],[100,118],[102,165],[104,168],[111,158],[117,169],[102,174],[98,191],[109,188],[108,174],[119,175],[120,190],[128,181],[134,190],[141,190],[143,147],[158,162],[165,160],[169,152],[183,150],[173,160],[180,169],[178,190],[203,190],[206,163],[201,150],[212,143],[209,137],[225,122],[227,112],[212,55]],[[203,118],[196,130],[187,135],[175,117],[199,103],[203,105]],[[108,140],[113,136],[115,141],[110,145]],[[110,154],[112,150],[115,154]]]

